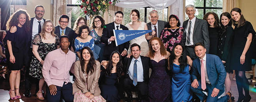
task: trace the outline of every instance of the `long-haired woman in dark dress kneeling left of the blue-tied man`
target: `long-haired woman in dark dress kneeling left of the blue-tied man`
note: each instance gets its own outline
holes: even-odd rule
[[[117,83],[123,69],[121,55],[118,51],[113,51],[109,62],[105,60],[102,62],[104,74],[100,84],[101,96],[107,101],[118,102],[121,97],[118,93]]]

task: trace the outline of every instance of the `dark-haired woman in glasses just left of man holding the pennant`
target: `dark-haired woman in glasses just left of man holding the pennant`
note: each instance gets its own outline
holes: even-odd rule
[[[103,60],[103,51],[105,44],[101,42],[102,30],[105,25],[105,20],[101,16],[93,18],[93,29],[90,31],[90,36],[94,39],[94,51],[99,56],[99,62]]]

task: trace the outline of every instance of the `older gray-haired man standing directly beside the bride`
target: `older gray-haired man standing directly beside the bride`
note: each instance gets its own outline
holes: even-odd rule
[[[152,38],[153,37],[160,38],[161,31],[165,28],[165,24],[167,24],[167,22],[158,20],[159,18],[158,12],[155,10],[149,12],[148,18],[150,19],[150,22],[147,24],[148,30],[155,29],[156,31],[155,35],[152,36],[152,32],[150,32],[149,35],[152,36]]]

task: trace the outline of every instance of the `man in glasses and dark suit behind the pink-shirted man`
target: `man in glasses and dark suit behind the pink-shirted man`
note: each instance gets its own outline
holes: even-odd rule
[[[70,40],[70,45],[69,45],[69,49],[71,51],[74,52],[74,39],[78,36],[75,31],[73,29],[71,29],[70,27],[68,27],[68,21],[69,21],[69,17],[67,15],[61,15],[59,17],[59,26],[55,27],[55,31],[54,33],[56,35],[58,35],[58,37],[60,38],[62,35],[66,35],[69,37]],[[73,47],[73,49],[71,49],[71,46]]]

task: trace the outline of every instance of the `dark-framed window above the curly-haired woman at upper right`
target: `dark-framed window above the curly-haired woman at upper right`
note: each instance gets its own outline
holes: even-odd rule
[[[208,12],[214,12],[218,16],[222,13],[223,0],[186,0],[185,5],[195,6],[195,16],[203,19],[203,15]],[[185,13],[185,20],[188,19],[188,15]]]

